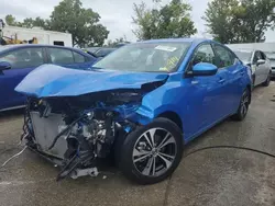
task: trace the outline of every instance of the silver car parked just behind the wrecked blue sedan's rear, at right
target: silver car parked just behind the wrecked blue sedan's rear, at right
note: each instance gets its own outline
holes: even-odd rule
[[[270,59],[261,50],[234,50],[235,55],[252,70],[253,84],[268,87],[271,82],[272,66]]]

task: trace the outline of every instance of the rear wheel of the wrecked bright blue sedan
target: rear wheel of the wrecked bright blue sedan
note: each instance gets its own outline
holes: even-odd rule
[[[251,91],[245,89],[242,94],[238,112],[232,116],[234,121],[243,121],[245,118],[250,107],[250,99]]]

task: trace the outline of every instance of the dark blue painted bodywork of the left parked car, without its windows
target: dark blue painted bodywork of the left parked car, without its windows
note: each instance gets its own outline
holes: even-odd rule
[[[70,47],[63,47],[63,46],[52,46],[52,45],[38,45],[38,44],[26,44],[26,45],[8,45],[0,47],[0,57],[3,57],[4,55],[15,52],[19,49],[24,48],[66,48],[73,52],[76,52],[85,58],[87,58],[86,62],[80,64],[70,64],[70,65],[62,65],[64,67],[68,68],[76,68],[76,69],[86,69],[89,68],[97,59],[91,57],[90,55]],[[45,52],[45,50],[44,50]],[[46,53],[43,53],[45,55],[44,62],[50,62],[50,59],[46,57]],[[35,67],[28,67],[28,68],[12,68],[9,70],[4,70],[2,73],[0,73],[0,111],[7,110],[11,107],[16,107],[20,105],[24,105],[25,103],[25,95],[22,95],[22,93],[18,93],[14,91],[14,88],[22,81],[22,79],[30,73],[32,70],[34,70]],[[48,75],[48,72],[46,73]],[[32,82],[33,84],[40,83],[37,80],[34,80]],[[4,98],[3,98],[4,96]]]

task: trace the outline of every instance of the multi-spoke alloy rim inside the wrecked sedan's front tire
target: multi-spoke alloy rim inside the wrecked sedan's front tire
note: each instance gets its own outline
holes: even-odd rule
[[[132,161],[142,175],[160,176],[169,170],[176,153],[176,140],[169,131],[150,128],[138,138]]]

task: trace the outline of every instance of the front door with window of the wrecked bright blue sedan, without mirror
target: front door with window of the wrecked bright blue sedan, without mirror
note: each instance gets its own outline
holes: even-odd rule
[[[216,56],[210,44],[200,45],[191,60],[193,68],[198,62],[216,65]],[[228,92],[228,71],[219,69],[215,76],[191,77],[183,80],[188,99],[189,127],[187,136],[193,137],[211,127],[224,117]],[[187,137],[188,138],[188,137]]]

